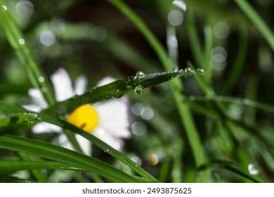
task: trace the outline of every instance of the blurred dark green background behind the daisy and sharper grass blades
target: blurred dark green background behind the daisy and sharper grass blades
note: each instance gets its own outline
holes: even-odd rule
[[[124,2],[168,49],[172,1]],[[252,0],[249,3],[273,31],[274,1]],[[195,68],[209,65],[204,77],[209,80],[204,84],[214,89],[216,95],[227,96],[216,96],[211,103],[194,77],[181,80],[209,160],[209,165],[201,168],[210,169],[213,182],[249,182],[243,173],[262,182],[273,182],[274,125],[273,113],[268,113],[274,101],[273,50],[235,1],[185,0],[185,4],[187,11],[183,13],[183,21],[176,25],[178,68],[184,69],[190,63]],[[48,76],[58,68],[65,68],[72,81],[79,75],[86,75],[92,88],[105,76],[122,79],[135,75],[138,70],[145,74],[164,72],[157,54],[138,28],[108,1],[9,0],[6,5],[11,8],[31,52]],[[2,28],[0,99],[24,105],[30,103],[27,90],[32,84]],[[189,139],[169,82],[146,89],[141,96],[134,93],[128,96],[132,106],[133,137],[126,141],[124,152],[163,182],[197,182],[195,173],[199,169],[195,169]],[[237,98],[242,100],[237,103]],[[246,98],[266,106],[259,110]],[[214,107],[218,99],[225,101],[223,111]],[[152,117],[142,115],[144,109]],[[0,128],[0,134],[7,133],[48,141],[52,138],[34,136],[30,125]],[[93,152],[94,157],[127,172],[126,167],[103,151],[94,147]],[[1,154],[8,157],[6,151]],[[74,179],[58,181],[74,182]]]

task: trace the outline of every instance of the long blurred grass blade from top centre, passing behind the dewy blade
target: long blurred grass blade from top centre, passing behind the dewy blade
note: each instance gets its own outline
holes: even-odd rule
[[[159,60],[162,62],[162,65],[166,70],[172,70],[174,66],[171,64],[171,61],[169,61],[169,57],[167,56],[166,51],[164,50],[164,47],[158,39],[155,37],[154,34],[150,31],[150,29],[143,23],[143,20],[134,13],[129,6],[124,4],[122,1],[119,0],[108,0],[112,5],[117,7],[119,11],[124,13],[126,17],[128,17],[134,25],[138,28],[138,30],[143,34],[145,39],[150,43],[152,48],[157,53],[157,56],[159,57]],[[183,103],[184,96],[181,94],[181,91],[183,89],[183,85],[179,80],[174,80],[171,82],[171,91],[174,96],[174,101],[176,103],[176,106],[178,108],[179,115],[181,116],[181,120],[183,123],[183,126],[185,127],[185,132],[188,136],[188,141],[190,142],[190,146],[193,151],[193,157],[195,159],[195,165],[196,167],[200,167],[201,165],[204,165],[207,163],[207,157],[204,153],[204,149],[202,147],[202,142],[200,141],[200,136],[197,132],[197,128],[195,127],[195,123],[193,120],[193,117],[190,113],[190,108],[188,105]],[[209,174],[206,171],[200,171],[200,180],[202,182],[210,182]]]

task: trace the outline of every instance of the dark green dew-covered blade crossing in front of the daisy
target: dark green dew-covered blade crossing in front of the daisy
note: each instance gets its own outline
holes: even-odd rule
[[[58,115],[65,115],[65,113],[70,112],[82,104],[96,103],[110,98],[119,98],[129,91],[136,91],[138,88],[143,91],[143,89],[155,86],[156,84],[168,82],[178,77],[191,77],[193,75],[203,75],[203,73],[198,70],[178,70],[176,72],[160,72],[142,75],[140,77],[128,77],[124,80],[117,80],[110,84],[93,88],[81,96],[74,96],[66,101],[56,103],[55,106],[48,108],[44,112],[48,114],[57,113]]]

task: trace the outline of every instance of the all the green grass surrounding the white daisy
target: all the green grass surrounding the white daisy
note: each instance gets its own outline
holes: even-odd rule
[[[235,0],[203,9],[199,1],[185,1],[182,12],[172,1],[108,0],[91,4],[86,13],[92,17],[81,18],[72,14],[83,9],[77,1],[61,2],[52,13],[36,10],[51,10],[49,1],[35,3],[21,24],[20,5],[0,3],[5,5],[0,9],[1,182],[51,182],[52,177],[67,182],[59,173],[70,182],[273,182],[269,5]],[[227,15],[226,7],[240,21]],[[105,15],[94,8],[108,8],[110,18],[102,20]],[[167,21],[174,9],[183,14],[181,25]],[[230,27],[228,37],[216,37],[219,22]],[[45,31],[55,37],[49,46],[39,40]],[[176,40],[175,47],[166,44],[167,36]],[[58,68],[72,81],[85,74],[86,92],[57,102],[48,78]],[[96,87],[105,76],[122,80]],[[48,103],[39,113],[21,107],[31,102],[30,87]],[[122,151],[65,121],[82,104],[124,98],[131,101],[132,134],[121,139]],[[63,131],[37,134],[33,127],[39,122]],[[63,134],[75,151],[58,146]],[[77,136],[90,142],[91,154],[84,154]],[[13,177],[22,172],[27,176]]]

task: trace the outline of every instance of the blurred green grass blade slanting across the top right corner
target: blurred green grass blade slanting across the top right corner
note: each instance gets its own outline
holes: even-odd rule
[[[236,4],[242,9],[242,11],[247,15],[249,20],[254,23],[257,30],[262,34],[266,42],[268,42],[272,51],[274,51],[274,34],[260,17],[260,15],[250,6],[250,4],[245,0],[234,0]]]

